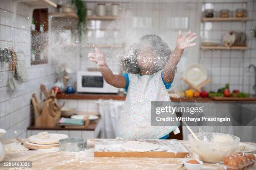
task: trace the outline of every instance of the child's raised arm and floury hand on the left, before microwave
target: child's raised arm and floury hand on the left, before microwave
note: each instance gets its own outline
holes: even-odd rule
[[[122,75],[114,75],[113,72],[110,70],[108,65],[105,62],[104,56],[100,52],[97,47],[95,48],[96,53],[90,52],[88,57],[91,61],[95,62],[97,65],[100,66],[100,72],[105,79],[105,81],[113,85],[114,87],[124,88],[126,86],[126,79]]]

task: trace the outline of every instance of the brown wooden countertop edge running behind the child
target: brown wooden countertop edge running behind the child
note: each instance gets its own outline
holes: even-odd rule
[[[72,100],[125,100],[126,95],[125,94],[95,94],[95,93],[74,93],[74,94],[57,94],[57,98],[59,99],[72,99]],[[241,98],[242,99],[242,98]],[[175,97],[170,97],[170,100],[172,102],[256,102],[256,98],[252,98],[250,101],[243,101],[243,100],[238,100],[238,101],[233,101],[233,100],[226,100],[226,101],[218,101],[218,100],[213,100],[212,98],[195,98],[195,97],[180,97],[180,98],[175,98]]]

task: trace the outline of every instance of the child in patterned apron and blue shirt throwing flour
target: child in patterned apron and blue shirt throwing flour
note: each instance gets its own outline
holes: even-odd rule
[[[170,101],[166,89],[172,85],[183,50],[196,45],[192,43],[196,38],[196,34],[190,31],[182,37],[179,31],[176,48],[171,52],[159,36],[141,37],[138,45],[128,53],[128,60],[124,63],[128,73],[123,75],[113,74],[97,48],[96,53],[88,54],[90,60],[100,66],[108,84],[127,90],[118,125],[121,137],[128,140],[166,139],[179,126],[176,121],[169,126],[151,126],[151,101]]]

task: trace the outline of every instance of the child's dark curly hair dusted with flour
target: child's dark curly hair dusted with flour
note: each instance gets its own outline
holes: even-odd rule
[[[154,62],[155,72],[164,69],[164,66],[169,60],[169,57],[172,53],[172,50],[169,46],[161,39],[161,37],[157,35],[144,35],[141,37],[138,44],[132,45],[123,58],[123,65],[125,72],[131,72],[133,74],[140,74],[140,67],[137,63],[137,57],[139,54],[140,47],[142,45],[146,45],[149,49],[151,49],[156,55],[156,62]]]

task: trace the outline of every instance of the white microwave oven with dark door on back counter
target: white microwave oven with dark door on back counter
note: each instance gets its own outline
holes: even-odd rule
[[[104,80],[101,72],[78,71],[77,92],[118,93],[118,88],[109,85]]]

